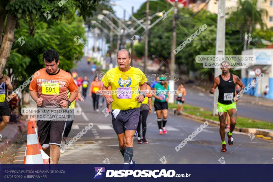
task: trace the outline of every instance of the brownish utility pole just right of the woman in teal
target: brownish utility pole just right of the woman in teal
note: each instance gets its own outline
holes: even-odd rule
[[[174,74],[175,70],[175,54],[173,50],[176,48],[176,21],[177,21],[177,0],[174,1],[173,20],[172,20],[172,50],[171,50],[171,69],[170,75]]]

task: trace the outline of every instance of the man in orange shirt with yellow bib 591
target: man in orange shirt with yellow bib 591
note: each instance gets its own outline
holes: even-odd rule
[[[73,77],[58,68],[60,61],[57,51],[45,51],[43,60],[45,68],[38,70],[39,76],[33,78],[29,86],[31,98],[38,108],[68,108],[78,95],[78,87]],[[68,99],[67,90],[70,92]],[[66,120],[37,121],[39,143],[43,151],[51,157],[50,163],[57,164],[59,161],[65,125]]]

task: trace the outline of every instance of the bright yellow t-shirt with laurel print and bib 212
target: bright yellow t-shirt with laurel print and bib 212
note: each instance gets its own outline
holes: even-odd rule
[[[105,73],[102,78],[105,87],[111,85],[111,91],[117,91],[112,94],[112,109],[134,109],[139,108],[140,103],[136,97],[139,95],[138,87],[147,82],[145,74],[138,68],[131,67],[128,71],[122,72],[119,67],[112,68]]]

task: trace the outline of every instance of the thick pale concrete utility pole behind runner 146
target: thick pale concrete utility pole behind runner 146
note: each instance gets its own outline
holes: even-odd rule
[[[217,19],[217,37],[216,37],[216,53],[215,55],[225,55],[225,34],[226,34],[226,11],[225,0],[218,1],[218,19]],[[214,68],[214,76],[217,77],[221,74],[220,68]],[[217,99],[219,96],[218,87],[214,93],[213,98],[213,116],[217,114]]]

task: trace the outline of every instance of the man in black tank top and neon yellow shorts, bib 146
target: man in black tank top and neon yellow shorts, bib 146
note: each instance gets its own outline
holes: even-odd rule
[[[236,125],[237,108],[235,99],[235,85],[238,84],[241,87],[241,91],[244,90],[244,84],[238,78],[238,76],[229,73],[229,63],[223,61],[221,64],[222,74],[214,78],[213,86],[210,89],[210,93],[213,94],[216,91],[216,87],[219,90],[218,97],[218,116],[220,121],[220,135],[222,139],[222,152],[226,152],[225,141],[225,124],[227,113],[230,116],[230,131],[227,133],[228,144],[233,145],[232,132]]]

